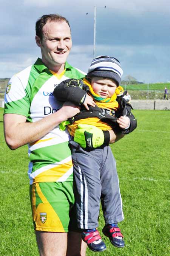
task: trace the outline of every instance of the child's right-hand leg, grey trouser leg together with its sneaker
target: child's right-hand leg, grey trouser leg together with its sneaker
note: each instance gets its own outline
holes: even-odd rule
[[[102,183],[102,209],[105,218],[103,233],[108,236],[111,244],[116,247],[124,247],[125,243],[117,222],[124,219],[122,211],[122,199],[119,189],[119,179],[116,170],[116,161],[110,147],[104,148],[104,162],[101,169]]]

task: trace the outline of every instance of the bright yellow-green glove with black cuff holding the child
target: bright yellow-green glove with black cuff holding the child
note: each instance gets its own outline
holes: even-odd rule
[[[109,144],[110,133],[90,124],[79,124],[74,134],[74,141],[84,149],[96,149]]]

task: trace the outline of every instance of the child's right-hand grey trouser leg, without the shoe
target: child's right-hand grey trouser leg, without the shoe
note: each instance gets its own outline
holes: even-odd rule
[[[104,147],[104,158],[101,169],[102,195],[101,203],[105,223],[117,223],[124,219],[116,161],[109,146]]]

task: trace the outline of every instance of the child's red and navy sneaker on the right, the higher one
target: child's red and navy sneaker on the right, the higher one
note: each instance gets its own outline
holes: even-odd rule
[[[110,242],[119,248],[122,248],[125,246],[125,242],[123,240],[123,235],[121,233],[120,228],[117,226],[117,224],[110,224],[105,225],[102,232],[105,236],[109,237]]]

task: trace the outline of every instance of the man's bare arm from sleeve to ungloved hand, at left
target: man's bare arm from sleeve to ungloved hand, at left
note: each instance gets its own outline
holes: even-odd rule
[[[17,149],[27,143],[39,140],[62,121],[73,117],[80,110],[70,102],[63,104],[57,112],[33,123],[26,123],[26,117],[17,114],[4,115],[4,134],[8,147]]]

